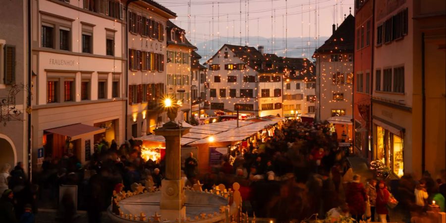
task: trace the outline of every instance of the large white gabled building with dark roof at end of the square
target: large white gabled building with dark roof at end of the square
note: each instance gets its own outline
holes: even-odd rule
[[[230,113],[243,117],[282,115],[282,72],[276,55],[264,55],[263,47],[225,44],[212,56],[207,78],[211,108],[207,113]]]

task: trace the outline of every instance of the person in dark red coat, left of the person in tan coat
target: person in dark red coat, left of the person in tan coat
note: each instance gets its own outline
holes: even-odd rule
[[[345,200],[348,204],[348,209],[353,219],[359,222],[364,215],[366,201],[366,192],[364,185],[360,182],[361,176],[353,175],[353,181],[350,182],[345,191]]]

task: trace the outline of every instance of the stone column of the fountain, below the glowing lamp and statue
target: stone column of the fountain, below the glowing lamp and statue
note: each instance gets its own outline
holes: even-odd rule
[[[156,135],[162,135],[166,138],[166,178],[161,183],[161,201],[160,209],[175,211],[181,215],[184,213],[184,191],[181,181],[181,145],[180,137],[189,132],[190,128],[166,127],[155,129]],[[183,216],[183,215],[181,215]]]

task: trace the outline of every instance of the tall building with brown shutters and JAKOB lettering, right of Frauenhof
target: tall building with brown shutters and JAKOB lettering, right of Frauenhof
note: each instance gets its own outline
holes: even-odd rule
[[[146,135],[166,121],[157,111],[166,93],[168,19],[176,14],[153,0],[125,1],[127,11],[127,138]]]

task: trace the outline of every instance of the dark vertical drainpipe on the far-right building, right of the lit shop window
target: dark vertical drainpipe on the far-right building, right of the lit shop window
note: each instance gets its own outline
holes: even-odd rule
[[[422,96],[422,111],[421,111],[421,171],[426,170],[426,77],[425,77],[425,43],[424,32],[421,33],[421,96]]]

